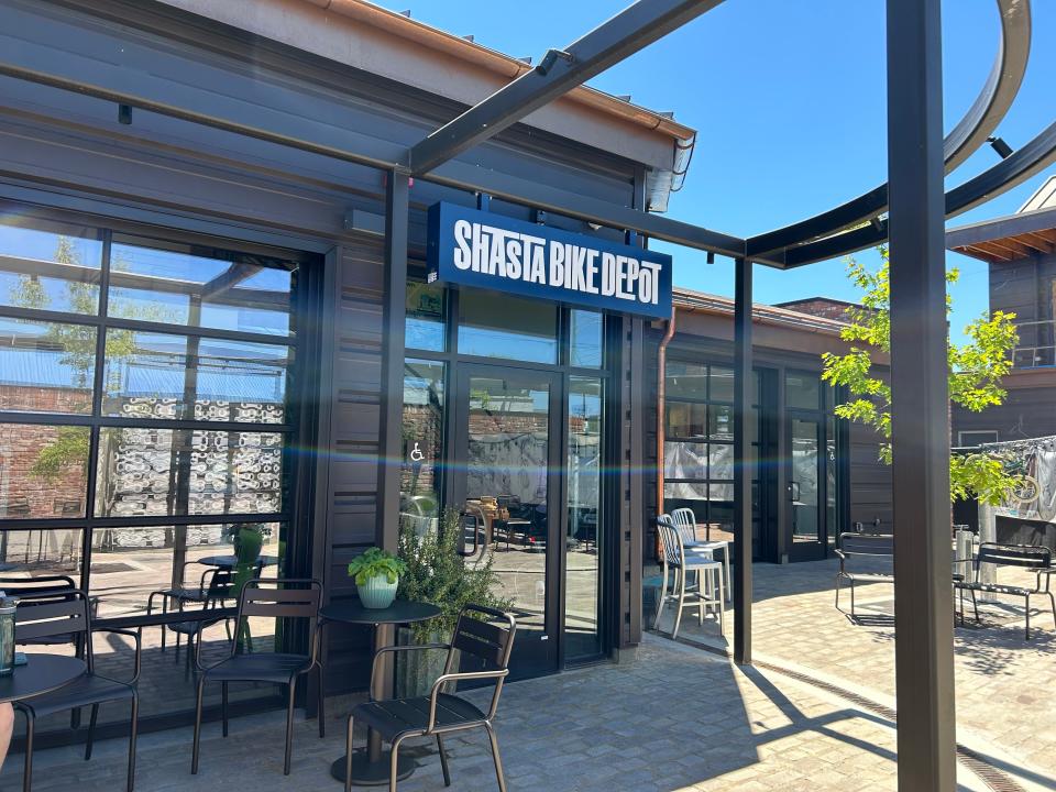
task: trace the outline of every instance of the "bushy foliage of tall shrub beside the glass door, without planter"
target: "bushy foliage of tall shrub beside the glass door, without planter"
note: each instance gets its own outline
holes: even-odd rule
[[[399,531],[399,556],[407,562],[407,572],[399,579],[397,596],[413,602],[427,602],[440,608],[440,615],[414,626],[415,640],[425,642],[431,634],[448,637],[454,631],[463,605],[474,603],[508,610],[513,603],[493,594],[498,583],[492,564],[493,556],[470,564],[459,556],[459,513],[443,513],[439,530],[420,535],[410,524]]]

